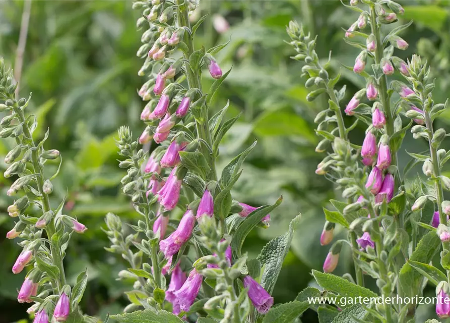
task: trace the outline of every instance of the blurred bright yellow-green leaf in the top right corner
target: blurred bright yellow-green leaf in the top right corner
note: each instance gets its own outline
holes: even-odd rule
[[[403,17],[405,19],[412,19],[436,32],[442,31],[448,17],[448,12],[438,6],[407,6],[404,9]]]

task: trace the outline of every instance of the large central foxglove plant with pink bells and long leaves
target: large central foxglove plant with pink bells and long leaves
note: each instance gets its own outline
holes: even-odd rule
[[[119,277],[135,281],[127,292],[132,303],[125,314],[113,316],[118,320],[172,315],[164,310],[187,320],[206,314],[236,323],[270,315],[270,293],[298,222],[257,259],[242,253],[246,235],[269,226],[269,212],[281,198],[260,207],[232,199],[240,167],[256,142],[217,175],[219,145],[239,116],[222,123],[228,104],[210,116],[214,93],[230,71],[223,73],[214,58],[225,45],[195,49],[196,31],[207,19],[190,25],[188,16],[197,6],[194,0],[133,5],[142,13],[137,26],[144,30],[137,55],[145,59],[138,73],[146,78],[138,91],[146,102],[145,129],[136,139],[121,127],[117,145],[125,158],[119,167],[127,169],[122,191],[142,220],[130,225],[130,233],[119,217],[106,216],[107,250],[130,263]],[[201,82],[205,71],[214,81],[207,92]]]

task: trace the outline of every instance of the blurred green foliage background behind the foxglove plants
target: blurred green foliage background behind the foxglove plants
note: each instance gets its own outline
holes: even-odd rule
[[[450,89],[450,5],[444,0],[399,3],[405,7],[402,21],[413,19],[414,24],[402,34],[410,43],[408,50],[396,55],[406,60],[418,52],[428,58],[437,78],[436,100],[443,101]],[[131,203],[119,192],[123,171],[117,167],[113,139],[120,125],[129,125],[135,136],[143,130],[139,116],[144,103],[137,95],[142,83],[137,71],[143,62],[136,57],[141,33],[136,30],[139,13],[131,4],[128,0],[33,0],[21,77],[21,95],[33,92],[29,110],[38,116],[37,138],[49,127],[46,147],[60,150],[63,156],[61,173],[53,183],[52,204],[56,206],[67,195],[64,212],[77,216],[89,228],[83,236],[73,237],[65,259],[67,275],[73,281],[88,268],[90,281],[81,306],[101,319],[108,312],[122,310],[127,304],[123,291],[130,288],[115,280],[124,268],[121,259],[103,250],[107,246],[100,230],[103,217],[114,212],[123,221],[137,219]],[[0,55],[12,66],[23,8],[22,0],[0,1]],[[303,214],[274,291],[276,303],[291,301],[310,283],[311,268],[322,268],[328,253],[318,239],[325,221],[322,207],[330,198],[339,198],[339,192],[314,174],[324,155],[314,151],[318,139],[312,120],[327,100],[306,101],[302,66],[289,58],[294,52],[285,43],[285,26],[295,19],[318,35],[318,54],[327,59],[331,50],[336,71],[339,62],[352,65],[357,55],[342,40],[342,28],[348,28],[357,13],[337,0],[201,0],[191,19],[206,13],[210,16],[197,33],[196,46],[208,48],[230,40],[217,59],[223,70],[233,66],[215,96],[211,115],[227,100],[229,117],[243,112],[221,147],[219,169],[258,138],[234,189],[234,199],[258,206],[274,202],[281,194],[284,197],[272,213],[271,227],[248,236],[245,247],[250,258],[269,239],[282,234],[299,212]],[[219,28],[220,17],[229,24],[225,31]],[[347,85],[346,102],[364,84],[353,73],[344,69],[342,73],[339,86]],[[205,88],[212,83],[209,77],[203,82]],[[351,122],[346,119],[347,124]],[[437,122],[450,123],[450,115],[442,115]],[[364,130],[353,131],[352,140],[362,141]],[[6,169],[3,156],[11,146],[8,141],[0,142],[1,173]],[[409,134],[404,147],[413,152],[426,148]],[[400,154],[401,165],[408,160],[406,153]],[[54,172],[56,167],[50,165],[46,170]],[[16,300],[24,273],[11,272],[20,249],[16,241],[4,238],[13,226],[6,212],[12,202],[6,195],[11,183],[0,178],[0,323],[27,322],[27,305]],[[337,239],[345,237],[340,228],[336,232]],[[336,274],[345,272],[352,272],[348,250]],[[421,313],[428,316],[428,309],[419,311],[418,321],[423,321]],[[308,310],[302,320],[315,322],[316,315]]]

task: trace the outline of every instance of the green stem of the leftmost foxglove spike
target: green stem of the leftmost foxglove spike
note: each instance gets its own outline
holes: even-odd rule
[[[26,119],[23,110],[19,107],[19,104],[17,102],[14,105],[14,111],[18,116],[19,122],[23,125],[23,133],[25,136],[24,139],[32,152],[31,160],[34,168],[34,173],[38,174],[36,175],[37,189],[42,196],[42,211],[45,213],[51,210],[51,206],[50,206],[50,199],[48,198],[48,195],[44,193],[44,190],[42,188],[44,185],[44,170],[39,163],[37,147],[36,144],[34,143],[28,124],[25,122]],[[57,266],[59,269],[59,282],[57,282],[58,283],[57,287],[58,292],[60,292],[61,288],[64,285],[66,285],[66,275],[64,273],[64,265],[62,263],[61,251],[58,249],[55,242],[52,241],[52,237],[56,233],[54,219],[52,219],[50,223],[46,226],[45,231],[47,232],[47,237],[48,240],[50,241],[50,250],[51,250],[51,257],[53,259],[53,264]]]

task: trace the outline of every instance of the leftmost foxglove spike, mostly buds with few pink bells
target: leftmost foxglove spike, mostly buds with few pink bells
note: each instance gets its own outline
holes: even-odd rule
[[[17,300],[33,303],[28,313],[35,314],[34,322],[71,320],[92,323],[96,319],[83,316],[78,306],[86,288],[87,273],[81,273],[72,288],[62,262],[73,232],[84,233],[87,228],[75,218],[62,214],[64,200],[57,207],[51,205],[51,181],[59,173],[62,157],[55,149],[45,150],[48,131],[41,141],[34,139],[36,116],[26,116],[31,94],[28,99],[19,98],[16,87],[13,71],[0,58],[0,100],[4,102],[0,104],[0,110],[6,113],[0,121],[0,137],[15,142],[5,157],[8,168],[4,176],[14,179],[7,194],[17,196],[8,207],[8,213],[16,223],[7,238],[22,239],[18,243],[22,252],[12,266],[12,272],[26,272]],[[59,160],[59,167],[46,179],[44,166],[53,159]]]

